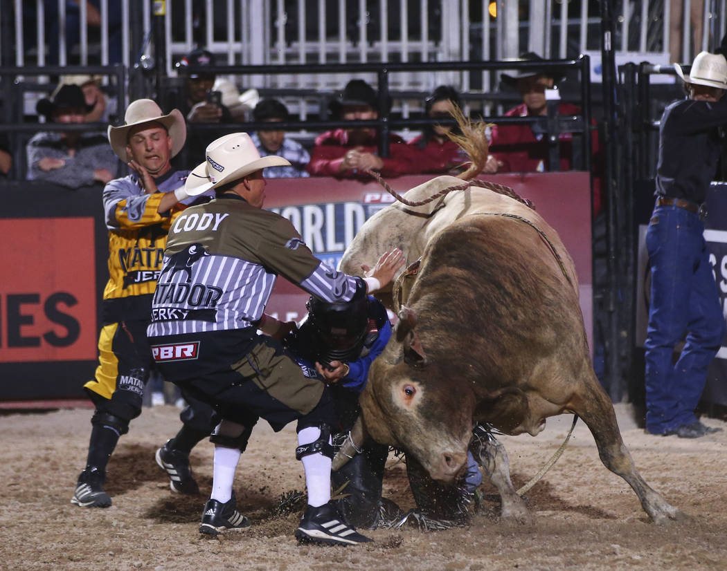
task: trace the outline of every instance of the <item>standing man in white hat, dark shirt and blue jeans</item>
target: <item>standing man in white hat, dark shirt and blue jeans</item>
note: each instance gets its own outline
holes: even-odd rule
[[[685,75],[688,98],[664,110],[659,126],[656,205],[646,231],[651,305],[646,333],[646,430],[699,438],[715,429],[694,415],[725,318],[704,242],[704,200],[727,126],[727,61],[700,52]],[[675,346],[686,334],[678,361]]]

